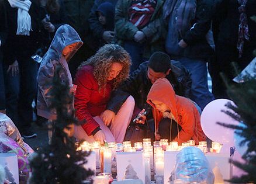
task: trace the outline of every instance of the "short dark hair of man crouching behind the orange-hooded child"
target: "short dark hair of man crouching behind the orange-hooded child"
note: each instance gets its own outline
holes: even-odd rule
[[[154,70],[154,72],[165,73],[171,68],[171,58],[169,58],[168,54],[155,52],[148,60],[148,67]]]

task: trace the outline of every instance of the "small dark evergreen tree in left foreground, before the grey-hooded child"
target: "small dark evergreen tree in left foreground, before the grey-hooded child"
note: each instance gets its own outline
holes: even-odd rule
[[[75,123],[74,109],[68,110],[72,104],[73,95],[70,94],[68,82],[61,81],[61,68],[54,73],[53,88],[51,89],[51,107],[56,109],[57,119],[53,121],[53,139],[50,145],[40,148],[30,159],[32,176],[29,183],[75,183],[80,184],[91,170],[83,168],[86,163],[87,152],[76,151],[74,138],[64,133],[64,128]],[[68,81],[68,80],[66,80]]]

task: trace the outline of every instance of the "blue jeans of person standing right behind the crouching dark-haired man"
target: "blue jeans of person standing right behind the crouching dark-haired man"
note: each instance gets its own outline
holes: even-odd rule
[[[173,59],[180,61],[191,72],[191,99],[203,110],[208,103],[215,99],[208,89],[206,61],[187,57],[174,57]]]

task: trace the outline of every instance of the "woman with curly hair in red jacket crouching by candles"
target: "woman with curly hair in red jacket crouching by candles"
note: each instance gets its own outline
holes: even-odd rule
[[[132,119],[134,99],[130,96],[119,112],[106,110],[110,94],[129,76],[129,54],[117,44],[106,44],[78,67],[75,77],[75,109],[78,140],[122,143]]]

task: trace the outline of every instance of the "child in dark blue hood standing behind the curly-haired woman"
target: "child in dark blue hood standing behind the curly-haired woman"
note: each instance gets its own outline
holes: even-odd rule
[[[96,14],[98,15],[99,23],[101,23],[104,29],[111,31],[110,33],[112,33],[114,38],[115,34],[113,31],[115,29],[115,6],[110,2],[103,2],[96,10]],[[102,38],[99,39],[99,46],[101,47],[103,44],[106,44],[106,41]]]

